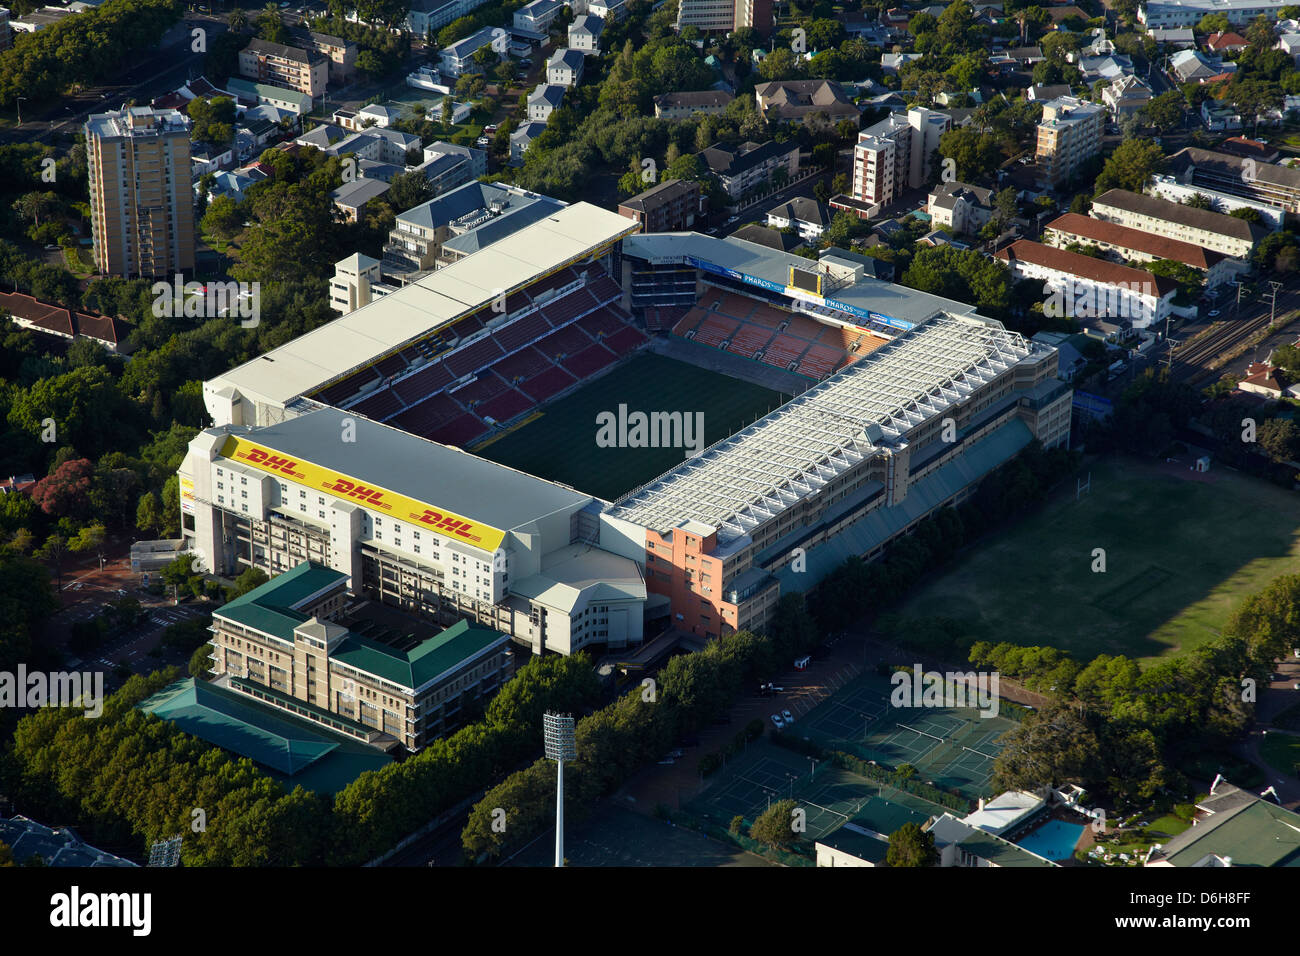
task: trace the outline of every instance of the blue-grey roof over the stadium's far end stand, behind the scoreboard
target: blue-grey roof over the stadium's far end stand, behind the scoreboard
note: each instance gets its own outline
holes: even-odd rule
[[[790,252],[781,252],[734,235],[724,239],[699,233],[646,233],[623,241],[623,254],[650,263],[701,259],[722,269],[740,272],[781,289],[790,281],[790,267],[815,269],[816,264]],[[852,286],[831,293],[837,300],[863,311],[878,312],[916,325],[941,312],[975,315],[975,306],[944,299],[907,286],[875,278],[859,278]]]

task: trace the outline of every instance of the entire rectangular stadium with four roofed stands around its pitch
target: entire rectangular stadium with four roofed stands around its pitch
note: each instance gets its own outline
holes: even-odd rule
[[[205,382],[186,546],[533,653],[708,639],[1069,440],[1056,351],[971,306],[637,228],[559,208]],[[598,447],[620,403],[702,414],[705,446]]]

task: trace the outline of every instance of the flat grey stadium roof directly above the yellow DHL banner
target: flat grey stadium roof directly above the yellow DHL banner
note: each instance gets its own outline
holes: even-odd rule
[[[344,419],[355,425],[355,442],[339,441]],[[247,428],[220,431],[251,432]],[[260,445],[282,454],[339,475],[373,475],[376,480],[367,485],[416,501],[433,499],[442,509],[502,531],[592,501],[592,496],[572,488],[337,408],[317,408],[251,434]],[[222,613],[228,609],[229,605]]]

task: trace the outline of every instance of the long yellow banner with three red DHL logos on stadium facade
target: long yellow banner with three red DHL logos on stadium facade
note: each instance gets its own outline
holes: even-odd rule
[[[495,551],[500,548],[506,532],[486,524],[471,522],[468,518],[452,514],[443,509],[433,507],[422,501],[408,498],[404,494],[390,492],[378,485],[367,485],[347,475],[341,475],[330,468],[304,462],[300,458],[283,455],[265,445],[230,436],[226,438],[221,455],[235,462],[251,464],[268,475],[283,476],[294,481],[328,492],[347,501],[355,501],[361,507],[377,511],[382,515],[391,515],[402,522],[411,522],[416,527],[426,528],[448,541],[462,541],[474,545],[485,551]]]

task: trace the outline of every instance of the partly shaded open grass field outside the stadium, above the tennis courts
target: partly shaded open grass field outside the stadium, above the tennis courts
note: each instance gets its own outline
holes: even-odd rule
[[[949,618],[975,640],[1157,658],[1218,635],[1240,601],[1300,571],[1300,498],[1218,463],[1110,458],[900,607],[900,639]],[[1105,572],[1093,572],[1093,549]]]

